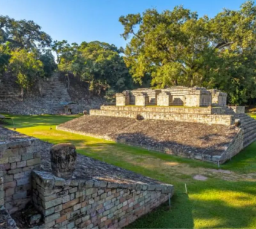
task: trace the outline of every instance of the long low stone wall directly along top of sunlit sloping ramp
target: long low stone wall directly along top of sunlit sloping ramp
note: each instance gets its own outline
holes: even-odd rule
[[[160,113],[140,111],[90,110],[91,115],[136,118],[140,114],[143,119],[159,119],[179,122],[200,122],[205,124],[234,124],[234,116],[222,114],[189,114],[189,113]]]

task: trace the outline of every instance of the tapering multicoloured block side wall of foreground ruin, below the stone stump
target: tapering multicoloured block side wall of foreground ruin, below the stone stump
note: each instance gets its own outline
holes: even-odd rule
[[[165,184],[64,180],[33,172],[33,202],[44,228],[123,228],[172,196]]]

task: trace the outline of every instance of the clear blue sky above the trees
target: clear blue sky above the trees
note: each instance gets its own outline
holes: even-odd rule
[[[212,17],[223,8],[238,10],[241,0],[0,0],[0,14],[34,20],[53,40],[99,40],[125,46],[119,17],[142,13],[147,8],[172,10],[176,5]]]

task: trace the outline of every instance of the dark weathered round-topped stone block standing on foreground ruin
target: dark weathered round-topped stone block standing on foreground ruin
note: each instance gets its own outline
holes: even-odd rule
[[[51,148],[51,169],[56,177],[71,178],[76,162],[76,147],[71,143],[61,143]]]

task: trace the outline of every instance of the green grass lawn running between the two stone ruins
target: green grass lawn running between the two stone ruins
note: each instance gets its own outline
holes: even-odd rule
[[[170,209],[163,205],[129,229],[256,228],[256,143],[221,165],[219,172],[211,163],[55,130],[56,125],[77,116],[10,117],[16,131],[51,143],[74,143],[80,154],[175,186]],[[8,120],[5,127],[12,129],[13,122]],[[208,180],[194,180],[194,175]]]

